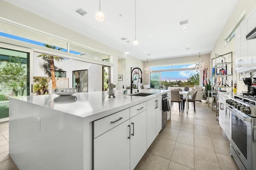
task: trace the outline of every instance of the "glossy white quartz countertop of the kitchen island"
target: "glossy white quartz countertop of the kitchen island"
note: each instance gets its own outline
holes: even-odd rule
[[[22,96],[15,97],[40,105],[56,111],[62,111],[68,114],[76,115],[79,117],[87,117],[90,119],[99,119],[101,117],[116,113],[126,108],[132,107],[139,103],[148,101],[155,97],[158,97],[164,93],[170,92],[170,90],[154,90],[154,89],[141,89],[140,93],[155,93],[146,97],[122,95],[121,91],[117,90],[115,98],[108,98],[106,91],[76,93],[70,96],[59,95],[36,95],[36,96]],[[128,91],[129,93],[129,91]],[[135,94],[135,93],[134,93]],[[12,104],[10,99],[10,105]]]

